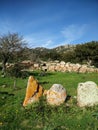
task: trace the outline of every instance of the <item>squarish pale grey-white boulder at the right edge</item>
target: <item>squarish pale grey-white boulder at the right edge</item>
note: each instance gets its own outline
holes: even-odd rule
[[[98,87],[92,81],[79,83],[77,88],[77,103],[80,107],[98,104]]]

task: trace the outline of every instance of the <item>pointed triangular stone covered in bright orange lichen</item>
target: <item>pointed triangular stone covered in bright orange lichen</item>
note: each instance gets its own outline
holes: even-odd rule
[[[28,104],[38,101],[42,94],[42,86],[33,76],[30,76],[27,83],[26,96],[23,102],[23,106],[27,106]]]

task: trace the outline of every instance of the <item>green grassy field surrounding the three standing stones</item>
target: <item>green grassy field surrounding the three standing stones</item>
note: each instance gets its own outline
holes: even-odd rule
[[[62,84],[68,97],[60,106],[49,106],[45,97],[26,108],[22,106],[28,77],[14,79],[0,77],[0,130],[98,130],[98,106],[79,108],[77,106],[77,86],[80,82],[94,81],[98,84],[98,74],[32,72],[44,89],[52,84]]]

